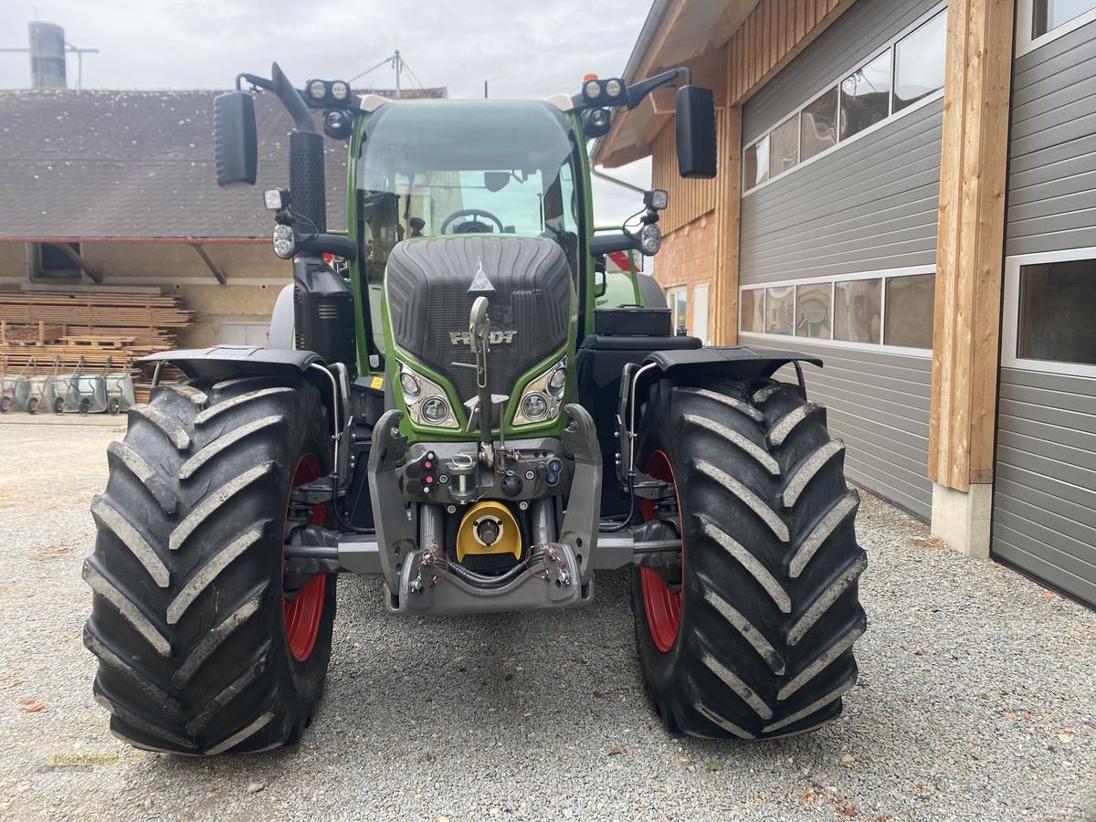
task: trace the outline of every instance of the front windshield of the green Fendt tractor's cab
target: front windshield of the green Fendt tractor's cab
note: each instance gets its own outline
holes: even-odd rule
[[[574,153],[567,119],[547,103],[383,105],[357,168],[367,273],[383,273],[400,240],[471,232],[556,239],[575,271]]]

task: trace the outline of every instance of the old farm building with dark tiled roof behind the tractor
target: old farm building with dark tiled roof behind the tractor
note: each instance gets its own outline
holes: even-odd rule
[[[197,312],[179,330],[181,344],[265,344],[292,269],[271,251],[262,192],[286,184],[293,121],[272,94],[258,94],[256,184],[218,189],[217,93],[0,91],[0,198],[9,204],[0,290],[178,295]],[[339,228],[346,145],[329,139],[326,148],[329,225]]]

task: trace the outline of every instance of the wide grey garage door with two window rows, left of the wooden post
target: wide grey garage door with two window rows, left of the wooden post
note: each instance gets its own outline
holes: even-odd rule
[[[947,11],[861,0],[743,110],[740,340],[808,388],[849,479],[927,520]]]

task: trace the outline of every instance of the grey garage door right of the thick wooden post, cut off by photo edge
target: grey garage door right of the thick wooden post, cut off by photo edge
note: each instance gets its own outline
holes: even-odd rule
[[[991,551],[1096,606],[1096,21],[1019,41]]]

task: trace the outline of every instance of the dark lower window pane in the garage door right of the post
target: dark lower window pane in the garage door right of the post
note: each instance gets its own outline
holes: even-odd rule
[[[1016,356],[1096,365],[1096,260],[1020,267]]]

